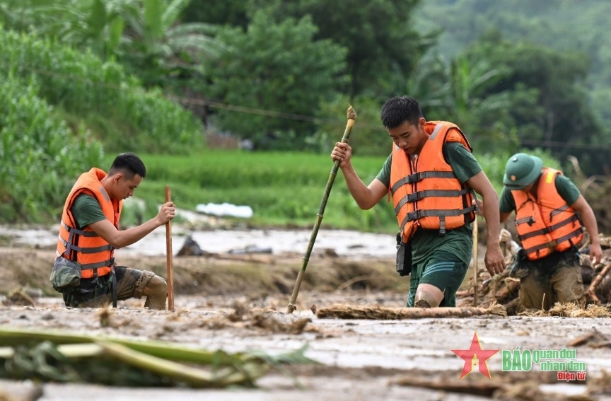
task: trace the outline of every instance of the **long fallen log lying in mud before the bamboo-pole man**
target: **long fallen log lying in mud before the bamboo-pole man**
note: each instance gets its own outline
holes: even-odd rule
[[[506,316],[502,305],[495,303],[489,308],[384,308],[382,306],[331,306],[316,311],[318,318],[325,319],[370,319],[403,320],[424,318],[470,318],[472,316]]]

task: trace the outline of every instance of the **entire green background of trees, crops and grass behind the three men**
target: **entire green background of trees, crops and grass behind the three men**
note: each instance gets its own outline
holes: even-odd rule
[[[250,204],[255,219],[308,225],[347,106],[358,115],[355,163],[375,156],[357,168],[369,182],[390,149],[380,106],[402,94],[421,101],[427,120],[456,122],[493,181],[522,149],[569,174],[571,156],[586,175],[608,174],[610,7],[606,0],[0,0],[0,104],[8,110],[0,120],[2,219],[57,213],[74,175],[95,165],[103,146],[106,158],[122,151],[150,158],[150,187],[139,190],[147,215],[169,180],[188,207]],[[282,152],[216,156],[204,150],[212,134]],[[325,173],[306,167],[319,164]],[[31,171],[50,169],[50,182],[26,194],[40,181]],[[209,199],[200,199],[204,192]],[[325,222],[393,226],[388,207],[356,209],[336,184]]]

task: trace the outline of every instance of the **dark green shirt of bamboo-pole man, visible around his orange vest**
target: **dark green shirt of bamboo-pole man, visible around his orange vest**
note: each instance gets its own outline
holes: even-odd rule
[[[456,178],[461,183],[477,175],[482,171],[482,166],[459,142],[447,142],[443,145],[443,157],[452,167]],[[390,166],[392,153],[386,159],[382,170],[376,176],[386,187],[390,186]],[[412,264],[420,263],[433,254],[433,252],[449,252],[465,262],[468,266],[471,262],[473,248],[472,228],[470,224],[446,231],[446,235],[439,236],[438,230],[425,230],[419,228],[412,238]]]

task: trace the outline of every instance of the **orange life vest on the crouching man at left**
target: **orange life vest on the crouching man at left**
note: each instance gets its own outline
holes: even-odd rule
[[[59,224],[59,239],[57,240],[57,256],[81,263],[81,278],[91,279],[95,276],[109,274],[114,265],[114,248],[91,228],[84,230],[76,228],[71,207],[79,194],[89,194],[100,203],[104,216],[119,228],[119,217],[123,202],[110,199],[100,180],[106,173],[99,168],[92,168],[81,174],[76,180],[70,194],[66,198],[62,222]]]

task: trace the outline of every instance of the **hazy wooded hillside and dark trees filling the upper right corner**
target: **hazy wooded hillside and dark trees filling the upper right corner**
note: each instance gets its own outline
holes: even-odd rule
[[[468,52],[508,66],[492,92],[537,91],[508,107],[521,146],[549,149],[563,165],[571,154],[586,172],[608,174],[610,13],[606,0],[426,0],[414,23],[441,32],[434,50],[448,60]]]

